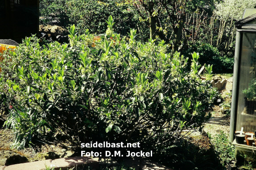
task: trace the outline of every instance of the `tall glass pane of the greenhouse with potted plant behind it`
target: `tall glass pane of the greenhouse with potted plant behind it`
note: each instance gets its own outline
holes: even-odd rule
[[[242,35],[236,130],[244,127],[244,131],[254,132],[256,130],[256,34]]]

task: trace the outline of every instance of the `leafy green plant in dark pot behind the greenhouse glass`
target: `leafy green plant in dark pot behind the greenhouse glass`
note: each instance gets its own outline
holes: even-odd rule
[[[251,83],[249,83],[248,89],[243,90],[243,93],[245,94],[245,113],[252,115],[254,114],[256,107],[256,79],[252,79]]]

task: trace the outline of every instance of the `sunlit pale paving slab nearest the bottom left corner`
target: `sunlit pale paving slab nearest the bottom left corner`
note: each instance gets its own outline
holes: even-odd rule
[[[4,168],[4,170],[45,170],[45,166],[50,166],[51,160],[36,161],[29,163],[20,163],[16,165],[10,165]]]

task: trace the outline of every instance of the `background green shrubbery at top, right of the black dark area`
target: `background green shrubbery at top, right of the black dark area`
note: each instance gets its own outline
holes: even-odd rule
[[[62,27],[75,25],[77,32],[83,34],[87,28],[96,34],[107,29],[105,20],[108,16],[115,18],[115,32],[127,35],[130,28],[138,29],[140,40],[149,38],[149,29],[133,6],[123,0],[41,0],[41,16],[45,21],[59,20]],[[56,16],[56,17],[52,17]]]

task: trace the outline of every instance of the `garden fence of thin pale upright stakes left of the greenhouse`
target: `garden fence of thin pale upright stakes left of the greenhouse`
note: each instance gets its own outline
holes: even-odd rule
[[[190,39],[193,43],[209,43],[218,47],[220,51],[234,46],[235,42],[235,21],[219,19],[218,16],[208,17],[193,13],[186,15],[185,28],[190,30]],[[184,31],[183,31],[184,32]]]

